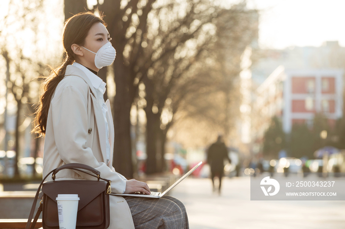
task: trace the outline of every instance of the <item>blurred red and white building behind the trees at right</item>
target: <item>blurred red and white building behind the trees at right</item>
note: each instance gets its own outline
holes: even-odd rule
[[[256,91],[258,135],[263,136],[274,115],[281,117],[286,133],[294,123],[312,126],[315,113],[325,114],[334,125],[343,115],[343,74],[340,69],[276,68]]]

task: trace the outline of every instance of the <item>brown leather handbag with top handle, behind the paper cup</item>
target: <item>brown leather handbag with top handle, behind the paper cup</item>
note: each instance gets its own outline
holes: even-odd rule
[[[64,169],[84,172],[91,176],[97,177],[98,180],[55,180],[55,174]],[[85,170],[92,172],[93,174],[90,174]],[[43,183],[51,173],[53,173],[53,180]],[[43,229],[59,229],[58,205],[56,201],[58,194],[78,194],[80,200],[78,202],[76,229],[108,228],[110,223],[110,180],[102,178],[100,173],[101,172],[90,166],[78,163],[66,164],[49,172],[43,178],[38,187],[26,229],[34,229],[41,211],[43,211]],[[35,215],[35,219],[31,223],[41,187],[43,200],[41,200]]]

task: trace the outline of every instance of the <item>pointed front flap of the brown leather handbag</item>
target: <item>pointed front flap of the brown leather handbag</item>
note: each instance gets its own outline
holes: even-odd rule
[[[106,189],[107,182],[103,180],[56,180],[42,185],[42,192],[55,202],[58,194],[78,194],[78,211]]]

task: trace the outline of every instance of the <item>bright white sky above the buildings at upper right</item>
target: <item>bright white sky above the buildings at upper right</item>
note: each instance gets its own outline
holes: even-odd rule
[[[248,0],[248,8],[260,12],[259,45],[283,49],[320,46],[338,40],[345,46],[344,0]]]

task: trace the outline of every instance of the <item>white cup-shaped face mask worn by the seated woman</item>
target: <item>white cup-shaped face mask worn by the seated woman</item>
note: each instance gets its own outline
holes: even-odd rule
[[[94,53],[91,50],[88,50],[87,48],[84,48],[84,49],[86,49],[87,51],[91,53]],[[97,51],[97,53],[94,53],[94,54],[96,54],[95,65],[97,68],[101,69],[105,66],[109,66],[110,64],[112,64],[112,62],[114,62],[114,59],[116,57],[116,50],[114,49],[114,47],[112,47],[111,43],[108,42],[104,46],[102,46]]]

